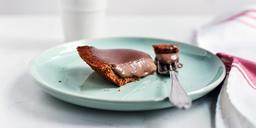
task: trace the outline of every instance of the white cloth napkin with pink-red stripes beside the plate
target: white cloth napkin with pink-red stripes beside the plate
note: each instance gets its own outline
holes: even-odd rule
[[[256,128],[256,6],[217,18],[199,29],[195,38],[200,47],[222,52],[217,55],[227,66],[217,101],[216,127]]]

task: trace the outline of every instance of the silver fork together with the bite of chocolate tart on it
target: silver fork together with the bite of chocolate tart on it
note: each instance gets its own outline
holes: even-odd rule
[[[176,75],[178,68],[182,67],[182,64],[179,63],[178,45],[159,44],[152,46],[156,54],[155,63],[158,65],[158,73],[161,75],[170,74],[170,103],[180,109],[189,109],[192,100],[180,85]]]

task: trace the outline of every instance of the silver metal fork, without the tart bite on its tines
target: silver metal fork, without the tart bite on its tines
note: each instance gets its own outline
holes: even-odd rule
[[[177,75],[175,73],[175,72],[178,73],[177,62],[172,64],[161,64],[158,60],[157,64],[158,64],[159,74],[170,74],[170,79],[171,79],[170,94],[169,94],[170,102],[174,106],[180,109],[190,108],[192,105],[192,100],[180,85]]]

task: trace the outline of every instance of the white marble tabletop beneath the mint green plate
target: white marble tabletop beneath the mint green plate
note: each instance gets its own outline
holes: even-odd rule
[[[104,37],[144,36],[191,43],[192,30],[212,16],[107,16]],[[166,108],[115,112],[73,105],[43,92],[30,80],[29,61],[64,43],[54,16],[0,16],[0,127],[214,127],[219,89],[193,102],[190,110]]]

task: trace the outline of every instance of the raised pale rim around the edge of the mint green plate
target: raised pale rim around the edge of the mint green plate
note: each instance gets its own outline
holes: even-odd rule
[[[95,101],[100,101],[100,102],[119,102],[119,103],[127,103],[127,102],[129,102],[129,103],[137,103],[137,102],[157,102],[157,101],[162,101],[162,100],[165,100],[166,98],[168,98],[168,97],[156,97],[156,98],[148,98],[148,99],[104,99],[104,98],[95,98],[95,97],[90,97],[90,96],[86,96],[86,95],[82,95],[82,94],[72,93],[72,92],[68,92],[68,91],[62,90],[62,89],[55,88],[55,87],[51,86],[48,83],[45,84],[45,83],[41,82],[41,80],[38,80],[37,77],[35,77],[35,75],[32,73],[32,64],[34,63],[35,59],[37,59],[40,55],[42,55],[44,53],[47,53],[48,51],[50,51],[52,49],[55,49],[55,48],[58,48],[58,47],[63,47],[63,46],[66,46],[66,45],[67,46],[68,45],[74,45],[74,44],[78,44],[78,43],[82,43],[82,42],[86,42],[86,41],[94,41],[94,40],[100,40],[100,39],[118,39],[118,38],[138,38],[138,39],[156,39],[156,40],[173,41],[173,40],[169,40],[169,39],[136,37],[136,36],[108,37],[108,38],[95,38],[95,39],[75,40],[75,41],[71,41],[71,42],[68,42],[68,43],[64,43],[64,44],[61,44],[61,45],[54,46],[52,48],[44,50],[43,52],[39,53],[36,56],[34,56],[34,58],[32,60],[30,60],[29,65],[28,65],[28,74],[29,74],[30,78],[37,85],[39,85],[39,87],[42,88],[43,90],[45,89],[44,87],[47,87],[46,89],[52,89],[55,92],[60,92],[60,93],[65,94],[65,95],[69,95],[69,96],[77,97],[77,98],[83,98],[83,99],[87,99],[87,100],[95,100]],[[182,42],[179,42],[179,41],[174,41],[174,42],[181,43],[181,44],[184,44],[184,45],[190,45],[190,46],[193,46],[193,47],[196,47],[196,48],[208,51],[206,49],[200,48],[200,47],[195,46],[193,44],[182,43]],[[220,58],[218,58],[217,55],[213,54],[210,51],[208,51],[208,52],[210,54],[216,56],[217,59],[221,60]],[[221,60],[221,63],[222,63],[222,66],[225,67],[225,65],[224,65],[222,60]],[[190,97],[192,97],[194,95],[203,94],[203,93],[207,92],[208,90],[211,90],[211,89],[213,90],[214,88],[216,88],[222,82],[222,80],[225,78],[225,76],[226,76],[226,68],[224,68],[223,73],[221,74],[221,76],[217,80],[215,80],[213,83],[211,83],[211,84],[209,84],[206,87],[203,87],[201,89],[195,90],[193,92],[189,92],[188,95]],[[47,90],[44,90],[44,91],[47,91]]]

